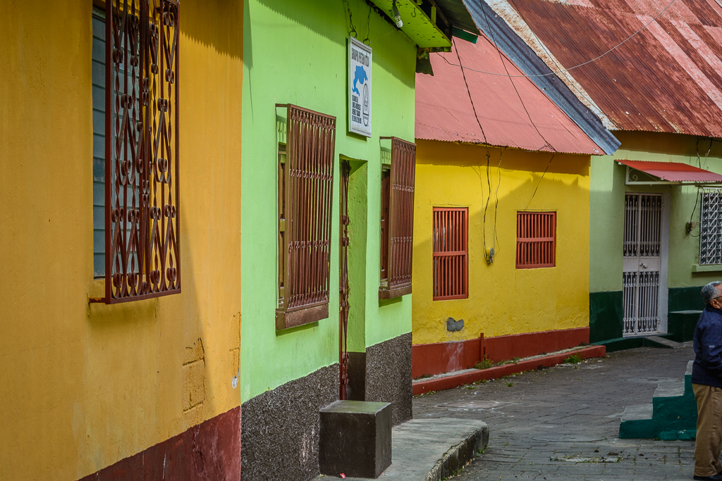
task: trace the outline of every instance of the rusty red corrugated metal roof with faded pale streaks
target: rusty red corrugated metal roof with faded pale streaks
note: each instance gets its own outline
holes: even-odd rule
[[[716,0],[510,0],[564,69],[624,130],[722,137]],[[527,39],[533,42],[532,39]],[[551,66],[552,69],[557,67]]]

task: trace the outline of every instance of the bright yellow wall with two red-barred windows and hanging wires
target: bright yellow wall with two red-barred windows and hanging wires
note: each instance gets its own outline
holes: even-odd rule
[[[491,201],[484,260],[487,149],[417,141],[414,212],[414,344],[588,326],[589,156],[490,148]],[[501,168],[498,169],[501,159]],[[544,179],[541,174],[549,165]],[[497,180],[500,176],[500,180]],[[534,194],[534,189],[539,186]],[[469,208],[469,299],[432,301],[432,208]],[[516,269],[516,212],[557,211],[557,267]],[[446,319],[464,329],[446,330]]]

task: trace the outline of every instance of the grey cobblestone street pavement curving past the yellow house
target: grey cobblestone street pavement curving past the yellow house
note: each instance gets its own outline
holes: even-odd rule
[[[692,479],[694,441],[617,436],[625,407],[651,402],[658,381],[684,378],[694,356],[691,343],[623,350],[414,397],[414,418],[489,425],[487,451],[459,481]]]

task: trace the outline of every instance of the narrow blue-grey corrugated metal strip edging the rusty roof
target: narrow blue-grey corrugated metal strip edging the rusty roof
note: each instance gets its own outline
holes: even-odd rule
[[[590,102],[583,102],[584,99],[578,99],[562,79],[552,74],[552,69],[539,58],[537,52],[507,25],[505,17],[497,15],[484,0],[464,0],[464,3],[484,35],[492,39],[524,74],[529,75],[531,81],[559,105],[595,144],[601,146],[604,153],[611,155],[619,149],[619,141],[600,120],[604,114],[601,114],[599,108]],[[467,72],[467,75],[486,74]]]

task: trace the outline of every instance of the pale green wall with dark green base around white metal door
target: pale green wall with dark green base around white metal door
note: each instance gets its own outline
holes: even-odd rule
[[[669,193],[669,312],[700,309],[699,288],[722,278],[720,270],[692,272],[699,261],[699,228],[687,234],[685,224],[699,222],[697,187],[625,185],[625,169],[615,159],[656,162],[697,162],[697,137],[673,133],[615,131],[622,146],[613,156],[591,160],[589,240],[589,325],[591,342],[622,336],[622,243],[625,192]],[[722,174],[722,143],[699,143],[703,169]],[[694,215],[692,215],[694,211]]]

